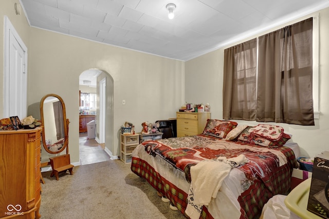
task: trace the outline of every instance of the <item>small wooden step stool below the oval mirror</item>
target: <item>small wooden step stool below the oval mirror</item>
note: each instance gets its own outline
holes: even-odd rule
[[[69,154],[63,154],[60,156],[54,156],[50,157],[50,165],[52,172],[50,174],[50,177],[56,176],[56,180],[58,179],[58,173],[60,172],[66,172],[67,170],[70,172],[71,175],[73,175],[73,167],[74,165],[70,164],[70,155]]]

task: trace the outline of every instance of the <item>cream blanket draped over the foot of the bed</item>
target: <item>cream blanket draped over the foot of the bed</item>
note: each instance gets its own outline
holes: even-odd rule
[[[199,218],[202,206],[208,206],[211,198],[217,196],[231,168],[247,162],[248,159],[241,154],[228,159],[218,157],[217,160],[206,160],[192,166],[190,169],[191,185],[188,194],[188,206],[185,213],[191,219]]]

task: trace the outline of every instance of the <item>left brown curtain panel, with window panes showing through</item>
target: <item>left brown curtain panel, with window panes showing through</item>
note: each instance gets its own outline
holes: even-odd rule
[[[255,120],[256,75],[256,38],[224,50],[224,119]]]

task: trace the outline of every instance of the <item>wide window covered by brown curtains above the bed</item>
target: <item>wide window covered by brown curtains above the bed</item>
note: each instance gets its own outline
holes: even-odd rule
[[[223,118],[314,125],[312,34],[313,18],[308,18],[260,36],[257,71],[253,58],[240,58],[241,52],[246,56],[254,49],[244,44],[251,45],[255,39],[226,49]],[[257,79],[248,76],[252,70]]]

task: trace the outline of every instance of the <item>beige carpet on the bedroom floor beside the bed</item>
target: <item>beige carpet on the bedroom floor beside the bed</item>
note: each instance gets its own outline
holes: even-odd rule
[[[59,181],[43,172],[41,218],[186,218],[169,208],[145,180],[120,160],[74,167]]]

